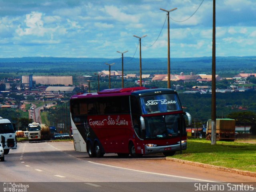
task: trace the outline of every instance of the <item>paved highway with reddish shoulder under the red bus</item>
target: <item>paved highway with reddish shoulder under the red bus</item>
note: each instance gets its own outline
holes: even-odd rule
[[[31,191],[37,192],[148,192],[170,188],[187,192],[194,191],[194,182],[255,181],[249,176],[169,162],[161,155],[133,159],[105,154],[104,158],[89,158],[87,153],[74,151],[72,142],[18,143],[0,167],[0,182],[28,182]]]

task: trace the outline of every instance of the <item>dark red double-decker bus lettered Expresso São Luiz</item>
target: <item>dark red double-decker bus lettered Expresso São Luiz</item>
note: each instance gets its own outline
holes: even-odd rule
[[[185,115],[175,90],[116,88],[70,98],[74,148],[89,157],[141,157],[186,150]]]

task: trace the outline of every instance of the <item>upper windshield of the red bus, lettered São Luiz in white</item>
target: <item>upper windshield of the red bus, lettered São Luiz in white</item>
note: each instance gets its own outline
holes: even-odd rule
[[[160,94],[140,98],[143,114],[182,110],[177,94]]]

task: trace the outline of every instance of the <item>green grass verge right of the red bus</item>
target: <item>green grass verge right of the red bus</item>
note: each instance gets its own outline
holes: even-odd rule
[[[256,172],[256,144],[190,139],[188,148],[175,158]]]

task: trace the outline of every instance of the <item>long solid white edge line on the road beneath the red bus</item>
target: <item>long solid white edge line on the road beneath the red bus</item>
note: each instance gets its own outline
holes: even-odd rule
[[[204,180],[204,179],[197,179],[197,178],[190,178],[190,177],[183,177],[183,176],[176,176],[176,175],[168,175],[168,174],[154,173],[154,172],[148,172],[148,171],[140,171],[140,170],[136,170],[136,169],[106,165],[106,164],[96,163],[96,162],[92,162],[92,161],[87,161],[87,162],[93,163],[93,164],[96,164],[96,165],[102,165],[102,166],[107,166],[107,167],[125,169],[125,170],[136,171],[136,172],[147,173],[147,174],[154,174],[154,175],[161,175],[161,176],[168,176],[168,177],[175,177],[175,178],[182,178],[182,179],[190,179],[190,180],[196,180],[196,181],[202,181],[202,182],[216,182],[216,181],[211,181],[211,180]]]

